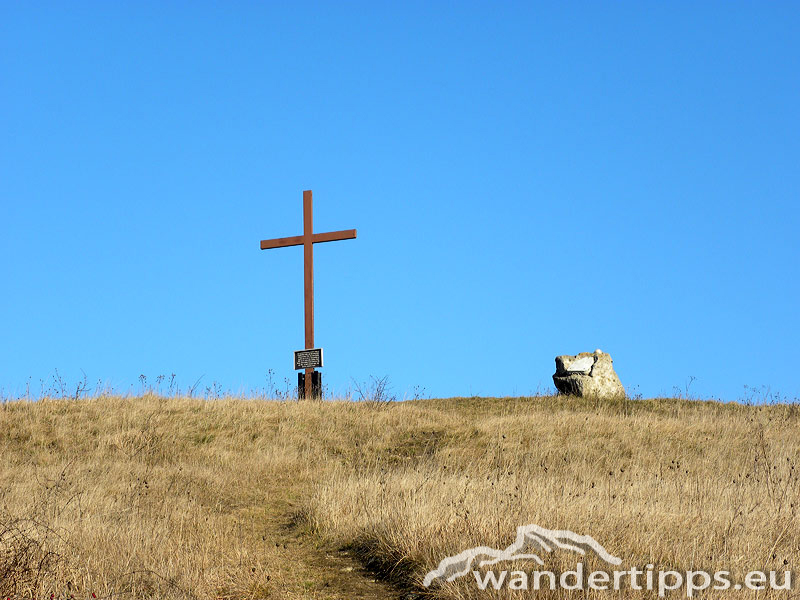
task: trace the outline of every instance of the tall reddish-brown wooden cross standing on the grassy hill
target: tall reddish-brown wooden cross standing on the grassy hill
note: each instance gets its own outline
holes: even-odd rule
[[[355,229],[314,233],[313,212],[311,209],[311,190],[303,192],[303,235],[274,240],[261,240],[261,249],[284,248],[286,246],[303,246],[303,279],[305,282],[305,321],[306,349],[314,347],[314,244],[352,240],[356,237]],[[311,398],[311,373],[314,369],[306,369],[305,397]]]

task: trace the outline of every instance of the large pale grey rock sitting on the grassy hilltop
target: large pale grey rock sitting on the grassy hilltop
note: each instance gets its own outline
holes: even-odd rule
[[[591,398],[620,398],[625,388],[614,372],[614,361],[602,350],[557,356],[553,383],[562,394]]]

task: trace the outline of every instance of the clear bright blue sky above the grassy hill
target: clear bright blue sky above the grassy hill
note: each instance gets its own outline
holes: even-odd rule
[[[0,3],[0,387],[800,396],[792,2]]]

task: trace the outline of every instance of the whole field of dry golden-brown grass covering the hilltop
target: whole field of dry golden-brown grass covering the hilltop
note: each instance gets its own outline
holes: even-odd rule
[[[797,404],[678,399],[6,402],[0,596],[533,597],[420,587],[528,523],[589,534],[623,566],[794,571],[799,426]]]

